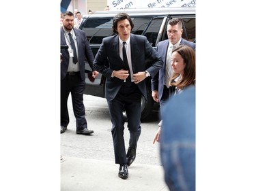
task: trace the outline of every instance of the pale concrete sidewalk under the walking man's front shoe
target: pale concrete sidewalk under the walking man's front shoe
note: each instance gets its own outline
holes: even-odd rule
[[[138,164],[128,167],[128,179],[118,177],[119,165],[109,160],[63,156],[61,191],[168,191],[161,166]]]

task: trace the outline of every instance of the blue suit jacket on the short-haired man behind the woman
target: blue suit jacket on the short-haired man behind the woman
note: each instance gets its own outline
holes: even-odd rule
[[[187,41],[185,39],[182,39],[180,41],[180,45],[188,45],[191,48],[195,50],[195,43]],[[164,90],[165,85],[165,66],[166,66],[166,56],[167,56],[167,50],[169,45],[169,39],[166,39],[164,41],[160,41],[158,43],[158,46],[156,48],[156,51],[162,56],[162,60],[164,60],[163,67],[159,70],[159,72],[152,77],[152,91],[157,90],[158,91],[158,99],[162,99],[162,92]]]

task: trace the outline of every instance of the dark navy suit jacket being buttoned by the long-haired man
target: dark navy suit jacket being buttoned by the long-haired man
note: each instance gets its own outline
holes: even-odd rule
[[[154,48],[152,48],[147,41],[147,37],[130,34],[130,51],[133,73],[145,71],[147,69],[150,76],[154,76],[163,65],[161,56],[154,50]],[[148,68],[146,68],[147,59],[152,61],[152,65]],[[118,35],[105,37],[102,40],[100,49],[95,56],[94,68],[106,77],[105,98],[108,101],[113,100],[122,84],[124,84],[124,80],[120,80],[117,77],[111,77],[111,75],[114,70],[117,71],[126,68],[122,58],[119,56]],[[147,99],[145,80],[137,84],[137,86],[139,87],[139,90],[141,90],[143,97]]]

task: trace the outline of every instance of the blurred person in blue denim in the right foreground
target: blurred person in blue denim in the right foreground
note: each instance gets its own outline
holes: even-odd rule
[[[171,191],[195,191],[195,86],[162,108],[160,159]]]

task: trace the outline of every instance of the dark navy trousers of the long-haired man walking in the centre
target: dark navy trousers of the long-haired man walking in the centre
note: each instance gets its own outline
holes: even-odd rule
[[[136,84],[126,86],[126,83],[120,88],[117,96],[112,101],[108,101],[109,112],[112,122],[112,137],[115,152],[115,163],[125,164],[126,148],[124,143],[124,118],[125,109],[128,120],[128,129],[130,132],[129,147],[137,149],[137,142],[141,135],[141,91]]]

